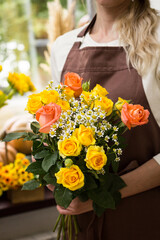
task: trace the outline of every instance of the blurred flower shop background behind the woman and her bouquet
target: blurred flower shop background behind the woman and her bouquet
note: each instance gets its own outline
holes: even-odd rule
[[[159,0],[151,0],[160,10]],[[32,141],[3,142],[8,133],[31,131],[28,96],[52,80],[51,46],[60,35],[87,24],[92,0],[0,1],[0,239],[54,240],[58,216],[47,187],[21,190],[32,179]],[[16,84],[16,81],[18,84]]]

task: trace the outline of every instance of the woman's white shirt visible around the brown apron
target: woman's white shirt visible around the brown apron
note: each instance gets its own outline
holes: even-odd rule
[[[98,46],[122,46],[119,40],[115,40],[109,43],[97,43],[90,37],[89,33],[87,33],[85,37],[78,38],[77,35],[85,27],[86,26],[83,26],[81,28],[65,33],[64,35],[58,37],[53,43],[51,49],[51,71],[54,86],[60,83],[61,72],[74,42],[81,41],[82,44],[80,48]],[[158,35],[160,39],[160,27],[158,29]],[[150,71],[142,77],[142,83],[154,118],[160,127],[160,79],[155,78],[154,66],[155,64],[153,62]],[[160,164],[160,153],[154,156],[154,159],[157,161],[157,163]]]

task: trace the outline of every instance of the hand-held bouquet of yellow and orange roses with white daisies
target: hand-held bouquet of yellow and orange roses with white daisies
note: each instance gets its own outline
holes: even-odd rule
[[[76,73],[65,75],[64,85],[29,96],[26,110],[36,121],[32,133],[11,133],[4,141],[23,137],[33,141],[33,156],[27,171],[34,179],[23,189],[40,185],[55,186],[53,195],[58,205],[67,208],[78,197],[91,199],[100,216],[107,208],[115,209],[121,199],[119,190],[125,186],[118,176],[118,166],[126,129],[148,122],[149,112],[140,105],[119,98],[114,104],[105,88],[97,84],[89,91],[89,82]],[[72,226],[73,223],[73,226]],[[57,239],[62,233],[75,238],[78,224],[75,216],[60,215]],[[67,231],[66,231],[67,227]]]

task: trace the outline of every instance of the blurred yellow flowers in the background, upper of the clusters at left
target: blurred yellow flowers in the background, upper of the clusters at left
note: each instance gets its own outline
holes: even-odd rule
[[[2,66],[0,65],[0,72]],[[29,76],[23,73],[9,73],[7,78],[9,86],[0,90],[0,108],[7,105],[7,100],[11,99],[15,94],[24,95],[26,92],[36,90]]]

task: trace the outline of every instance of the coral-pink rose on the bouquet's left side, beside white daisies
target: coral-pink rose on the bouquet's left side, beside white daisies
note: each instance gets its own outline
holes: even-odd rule
[[[56,122],[61,115],[61,107],[56,103],[50,103],[41,107],[36,112],[36,119],[39,122],[42,133],[49,133],[51,125]]]

